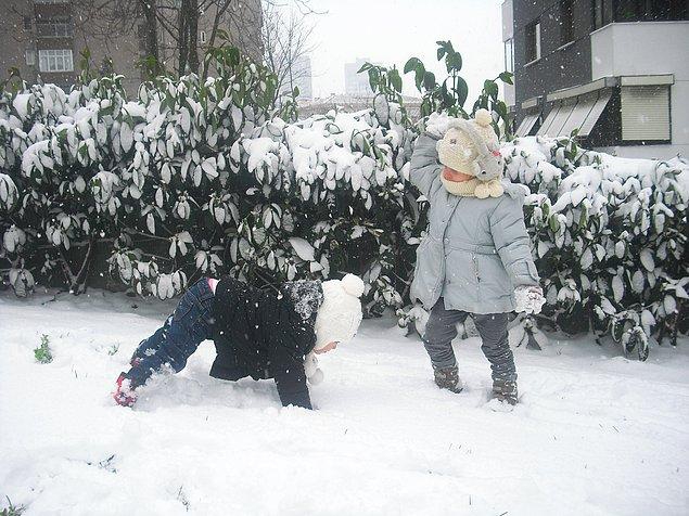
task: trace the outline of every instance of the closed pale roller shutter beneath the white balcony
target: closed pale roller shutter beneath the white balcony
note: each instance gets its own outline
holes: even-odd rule
[[[669,87],[622,87],[622,139],[669,141]]]

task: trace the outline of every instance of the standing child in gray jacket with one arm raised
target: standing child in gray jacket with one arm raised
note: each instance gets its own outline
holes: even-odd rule
[[[411,296],[431,311],[423,341],[437,386],[462,390],[451,341],[457,323],[471,315],[493,370],[493,396],[515,404],[508,313],[537,313],[545,300],[524,224],[524,192],[500,180],[490,122],[479,109],[475,119],[452,118],[445,131],[417,142],[410,178],[429,199],[430,225],[417,250]]]

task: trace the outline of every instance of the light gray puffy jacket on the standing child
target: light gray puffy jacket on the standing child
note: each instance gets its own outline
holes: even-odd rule
[[[448,310],[514,310],[514,288],[538,285],[524,225],[524,190],[505,182],[505,195],[480,199],[449,194],[441,182],[436,139],[422,134],[411,157],[410,180],[429,199],[429,233],[417,249],[412,299],[431,309],[443,297]]]

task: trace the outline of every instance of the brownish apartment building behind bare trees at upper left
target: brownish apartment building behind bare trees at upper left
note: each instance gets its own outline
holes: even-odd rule
[[[170,9],[179,4],[178,0],[160,2],[166,2]],[[142,79],[138,63],[145,55],[143,18],[115,23],[111,18],[99,18],[98,12],[88,9],[90,4],[88,0],[3,0],[0,7],[0,80],[8,77],[9,68],[15,67],[28,82],[40,78],[43,82],[68,89],[77,79],[80,55],[88,47],[93,66],[105,67],[106,59],[112,60],[114,70],[125,77],[125,88],[135,92]],[[235,36],[239,47],[259,59],[260,0],[248,0],[242,5],[242,24],[228,24],[221,28]],[[208,44],[215,9],[217,7],[212,7],[199,20],[200,57]],[[238,34],[239,30],[242,34]],[[175,69],[176,44],[163,29],[158,29],[158,46],[165,67]]]

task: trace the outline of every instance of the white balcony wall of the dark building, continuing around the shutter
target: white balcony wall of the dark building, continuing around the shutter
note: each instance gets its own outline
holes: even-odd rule
[[[636,157],[689,156],[689,22],[615,23],[591,34],[592,79],[625,75],[673,74],[672,145],[620,146]],[[653,156],[650,155],[653,154]]]

